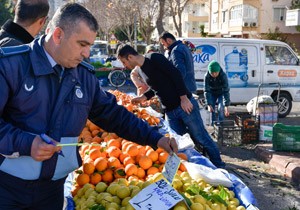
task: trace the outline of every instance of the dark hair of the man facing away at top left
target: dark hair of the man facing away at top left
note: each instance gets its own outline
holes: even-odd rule
[[[46,17],[49,12],[48,0],[18,0],[15,6],[15,19],[27,25],[39,18]]]

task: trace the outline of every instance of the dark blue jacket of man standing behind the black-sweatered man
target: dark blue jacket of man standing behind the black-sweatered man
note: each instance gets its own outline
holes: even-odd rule
[[[189,48],[181,41],[174,42],[169,46],[169,61],[181,72],[184,83],[190,92],[197,90],[194,60]]]

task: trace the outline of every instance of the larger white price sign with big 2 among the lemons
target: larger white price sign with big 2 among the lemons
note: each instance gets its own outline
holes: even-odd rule
[[[164,179],[144,188],[129,203],[136,210],[170,209],[183,197]]]

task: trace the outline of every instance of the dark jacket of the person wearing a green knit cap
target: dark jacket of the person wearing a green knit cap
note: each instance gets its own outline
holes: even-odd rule
[[[213,78],[209,72],[206,72],[204,76],[204,96],[206,104],[212,105],[212,95],[220,96],[223,95],[223,105],[230,105],[230,94],[227,75],[221,69],[219,75]]]

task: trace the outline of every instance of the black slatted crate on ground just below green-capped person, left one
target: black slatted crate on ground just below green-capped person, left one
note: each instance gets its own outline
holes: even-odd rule
[[[234,120],[225,120],[214,123],[214,137],[220,146],[223,145],[240,145],[241,127],[237,126]]]

